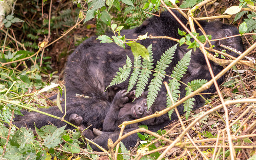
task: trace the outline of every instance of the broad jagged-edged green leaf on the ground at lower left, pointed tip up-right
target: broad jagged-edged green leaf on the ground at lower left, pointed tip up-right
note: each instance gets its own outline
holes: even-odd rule
[[[52,135],[49,135],[48,137],[45,138],[44,140],[44,144],[47,148],[54,148],[56,147],[58,144],[60,144],[62,142],[61,140],[61,135],[64,132],[65,128],[67,125],[58,128],[57,130],[55,130],[53,132]]]

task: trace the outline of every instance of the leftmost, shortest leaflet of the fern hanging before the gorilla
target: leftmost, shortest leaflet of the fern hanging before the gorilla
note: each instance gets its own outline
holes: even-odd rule
[[[128,76],[131,72],[132,61],[130,60],[130,58],[127,55],[126,55],[126,57],[127,57],[126,64],[123,66],[123,68],[121,68],[121,67],[118,68],[119,72],[116,72],[117,75],[115,76],[115,78],[113,78],[113,80],[110,82],[110,85],[107,86],[107,88],[110,86],[114,86],[116,84],[120,84],[128,78]]]

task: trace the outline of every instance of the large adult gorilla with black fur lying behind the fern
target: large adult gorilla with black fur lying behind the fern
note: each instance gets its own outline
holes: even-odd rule
[[[178,12],[175,14],[180,18],[180,20],[187,24],[187,20],[181,16]],[[221,22],[200,22],[206,34],[211,34],[212,39],[222,38],[225,36],[231,36],[239,34],[238,30],[234,26],[227,24],[222,24]],[[178,28],[182,29],[182,26],[175,20],[175,18],[169,12],[162,12],[160,17],[152,17],[143,22],[141,26],[132,30],[123,30],[121,34],[125,34],[126,38],[133,39],[137,38],[138,35],[144,35],[148,32],[148,35],[152,36],[170,36],[173,38],[180,39],[181,36],[178,34]],[[200,31],[198,31],[200,32]],[[113,34],[109,34],[112,36]],[[160,56],[168,48],[176,44],[176,42],[167,39],[146,39],[140,40],[140,44],[148,47],[152,44],[152,51],[154,57],[154,66],[156,65],[157,60],[160,59]],[[216,49],[221,50],[220,44],[226,46],[231,46],[237,50],[243,51],[242,40],[239,37],[229,38],[221,41],[212,42],[216,46]],[[172,74],[174,66],[176,66],[178,60],[189,50],[186,49],[187,46],[183,45],[177,47],[177,50],[174,55],[174,59],[170,66],[165,70],[166,74]],[[228,52],[232,56],[236,56],[233,52]],[[92,128],[102,129],[104,118],[106,113],[110,109],[110,104],[113,101],[114,95],[120,90],[124,90],[128,86],[128,80],[121,84],[114,85],[104,92],[106,86],[108,86],[111,80],[116,75],[119,67],[122,67],[126,62],[126,55],[130,57],[133,61],[133,55],[130,50],[130,47],[126,45],[126,49],[117,46],[114,43],[100,43],[99,40],[96,40],[96,37],[92,37],[88,40],[85,40],[76,50],[69,56],[68,62],[66,64],[66,88],[67,88],[67,115],[66,118],[71,114],[78,114],[83,118],[84,126],[92,125]],[[218,74],[222,67],[211,62],[212,69],[214,74]],[[150,80],[152,77],[150,77]],[[207,79],[210,80],[211,76],[208,71],[208,67],[204,60],[203,54],[200,50],[196,52],[192,51],[190,66],[188,71],[182,78],[184,83],[190,82],[194,79]],[[165,78],[164,81],[168,82],[169,78]],[[224,81],[224,77],[221,77],[218,80],[218,84],[221,84]],[[183,98],[186,91],[184,90],[185,86],[180,87],[180,98]],[[211,86],[205,92],[215,92],[214,86]],[[90,96],[90,98],[82,98],[74,96],[77,94],[84,94]],[[204,97],[209,97],[209,95],[204,95]],[[196,96],[196,102],[194,108],[202,106],[203,100],[200,96]],[[156,98],[153,106],[151,106],[152,112],[160,111],[166,108],[166,89],[161,88],[161,91]],[[183,114],[183,106],[179,106],[178,110],[180,114]],[[63,114],[58,110],[57,107],[52,107],[44,110],[54,114],[56,116],[62,116]],[[36,112],[23,112],[25,117],[16,116],[14,118],[15,124],[17,126],[24,126],[26,123],[28,127],[34,128],[34,122],[37,127],[42,127],[43,125],[51,122],[52,124],[60,127],[65,125],[64,122],[56,120],[54,118],[36,113]],[[176,115],[172,114],[172,120],[176,119]],[[153,118],[152,123],[148,124],[149,130],[157,131],[170,122],[170,119],[167,114]],[[70,126],[68,126],[70,128]],[[129,132],[136,128],[129,128],[125,132]],[[107,148],[108,138],[112,138],[115,141],[118,138],[119,132],[103,132],[100,136],[94,139],[94,142]],[[134,146],[137,142],[137,134],[129,136],[124,139],[122,142],[126,147]],[[94,149],[96,149],[93,146]],[[97,150],[97,149],[96,149]]]

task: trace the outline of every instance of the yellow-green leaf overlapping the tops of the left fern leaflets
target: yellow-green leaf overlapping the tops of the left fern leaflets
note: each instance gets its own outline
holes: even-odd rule
[[[143,46],[137,42],[133,42],[133,43],[131,43],[131,50],[132,50],[132,54],[134,55],[134,58],[136,60],[138,59],[139,56],[142,56],[142,58],[150,61],[149,53],[145,46]]]

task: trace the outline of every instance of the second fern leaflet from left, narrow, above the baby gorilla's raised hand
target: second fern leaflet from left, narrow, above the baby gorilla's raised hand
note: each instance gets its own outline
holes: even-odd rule
[[[130,80],[129,80],[129,85],[128,85],[127,92],[132,90],[133,86],[136,84],[136,81],[138,80],[138,76],[140,74],[140,68],[139,67],[142,66],[140,58],[141,58],[141,56],[139,56],[137,60],[134,60],[134,63],[133,63],[134,69],[132,71],[132,75],[131,75]]]

